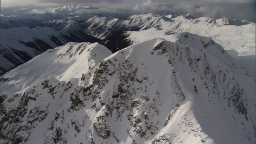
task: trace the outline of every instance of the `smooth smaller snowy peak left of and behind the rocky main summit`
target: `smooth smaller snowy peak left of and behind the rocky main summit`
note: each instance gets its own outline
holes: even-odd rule
[[[80,78],[83,73],[88,73],[111,54],[106,47],[98,43],[69,42],[64,46],[47,50],[2,75],[1,92],[20,92],[51,76],[66,82],[71,78]]]

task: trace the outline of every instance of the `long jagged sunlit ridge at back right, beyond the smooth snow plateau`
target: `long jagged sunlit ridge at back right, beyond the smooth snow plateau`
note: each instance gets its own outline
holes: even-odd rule
[[[229,20],[230,23],[234,22],[234,20],[230,18],[223,18],[224,21],[226,19]],[[239,22],[238,20],[235,21],[235,23]],[[171,33],[190,32],[212,38],[212,40],[223,46],[225,50],[228,50],[228,53],[232,57],[241,56],[239,58],[244,59],[242,56],[246,56],[248,61],[244,62],[244,64],[255,61],[255,23],[234,26],[220,24],[219,20],[217,20],[217,22],[213,18],[193,18],[190,14],[177,16],[175,18],[172,18],[172,16],[140,14],[132,15],[127,20],[95,16],[86,22],[90,24],[86,32],[101,39],[106,38],[111,31],[115,31],[118,28],[122,28],[125,31],[129,29],[146,30],[149,28],[162,28]],[[146,38],[151,38],[151,36],[154,36],[154,34],[148,33]]]

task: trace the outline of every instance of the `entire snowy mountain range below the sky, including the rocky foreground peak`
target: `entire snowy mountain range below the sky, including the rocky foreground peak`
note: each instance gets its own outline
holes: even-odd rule
[[[1,143],[256,142],[255,23],[190,14],[51,22],[1,29],[1,54],[31,59],[0,77]]]

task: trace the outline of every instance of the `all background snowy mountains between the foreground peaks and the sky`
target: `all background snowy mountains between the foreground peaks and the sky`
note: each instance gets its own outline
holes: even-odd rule
[[[27,27],[11,28],[12,22],[24,23],[20,26],[34,29]],[[29,25],[31,23],[35,24],[31,26]],[[190,14],[177,17],[134,14],[126,19],[93,15],[71,16],[68,14],[39,14],[36,17],[34,15],[1,16],[1,26],[6,25],[10,25],[10,29],[1,29],[0,58],[2,63],[0,64],[0,73],[7,72],[38,54],[56,48],[56,46],[62,46],[67,42],[101,42],[101,40],[96,39],[100,38],[106,42],[102,44],[106,45],[112,52],[113,50],[116,52],[115,49],[120,50],[120,48],[128,46],[122,42],[121,44],[114,44],[116,41],[123,40],[120,38],[126,37],[125,34],[123,35],[124,32],[149,28],[162,28],[168,30],[170,34],[190,32],[210,37],[222,45],[225,50],[229,50],[229,54],[234,56],[252,55],[250,59],[255,60],[255,23],[232,18],[218,20],[207,17],[194,18]],[[248,60],[243,61],[243,64],[253,65]],[[255,67],[251,70],[255,70]]]

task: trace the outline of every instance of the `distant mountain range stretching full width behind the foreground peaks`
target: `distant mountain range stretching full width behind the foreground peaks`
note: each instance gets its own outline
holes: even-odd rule
[[[54,18],[62,18],[62,19],[54,19]],[[236,30],[241,29],[240,30],[241,34],[239,36],[233,37],[233,39],[234,38],[240,39],[241,36],[244,36],[248,33],[253,34],[253,32],[255,32],[255,30],[251,31],[251,29],[255,27],[255,23],[233,20],[231,18],[223,18],[218,20],[214,20],[212,18],[206,18],[206,17],[194,18],[190,14],[187,14],[184,16],[177,16],[177,17],[174,17],[172,15],[160,16],[156,14],[140,14],[140,15],[136,14],[126,19],[100,17],[100,16],[94,16],[90,18],[90,15],[87,17],[82,17],[82,16],[70,16],[70,15],[63,16],[63,15],[48,14],[46,16],[40,15],[40,17],[36,15],[32,15],[30,17],[24,16],[22,18],[3,17],[3,20],[1,19],[1,23],[10,24],[10,22],[15,20],[16,22],[22,20],[22,21],[27,21],[27,23],[32,23],[31,20],[40,21],[40,19],[50,20],[50,21],[44,21],[39,24],[33,24],[33,25],[25,24],[25,26],[30,26],[30,28],[35,28],[37,26],[36,29],[39,29],[38,26],[43,26],[44,29],[41,28],[42,31],[44,30],[46,31],[46,32],[38,32],[38,30],[33,29],[32,32],[35,33],[35,34],[32,34],[33,38],[30,37],[31,34],[26,34],[27,32],[30,33],[31,31],[28,28],[12,28],[10,30],[9,29],[1,30],[2,40],[1,40],[0,49],[2,49],[3,51],[6,51],[4,53],[1,53],[2,55],[1,58],[3,58],[3,61],[4,61],[4,64],[1,64],[0,66],[1,73],[6,72],[7,70],[10,70],[24,62],[27,62],[28,60],[30,60],[31,58],[33,58],[38,54],[41,54],[45,50],[55,48],[56,46],[61,46],[63,44],[66,44],[67,42],[100,42],[101,44],[107,46],[112,52],[116,52],[130,45],[129,41],[124,40],[128,37],[126,32],[129,30],[138,31],[138,30],[146,30],[148,28],[162,28],[165,30],[169,30],[170,33],[192,32],[195,34],[212,37],[216,42],[220,43],[224,47],[226,47],[226,44],[230,43],[230,42],[222,41],[223,36],[227,34],[229,34],[228,36],[231,36],[233,34],[238,35]],[[230,31],[230,28],[232,27],[230,26],[228,28],[225,28],[226,25],[228,26],[244,25],[244,27],[243,28],[236,27],[234,28],[235,30]],[[10,26],[15,27],[14,25],[10,25]],[[48,27],[54,28],[55,30]],[[51,36],[48,36],[49,34],[47,32],[50,32],[51,35],[54,35],[54,38],[51,39]],[[6,33],[9,33],[9,35]],[[45,35],[45,37],[37,38],[38,37],[37,34],[39,33],[40,34],[42,33],[43,35]],[[28,37],[30,38],[28,38],[26,42],[22,42],[22,40],[20,39],[24,39],[26,35],[28,35]],[[16,38],[8,38],[8,36],[10,37],[14,36]],[[64,37],[64,39],[66,40],[62,40],[63,38],[58,38],[59,36]],[[97,40],[96,38],[92,38],[91,36],[94,36],[101,40]],[[6,40],[6,39],[9,39],[9,40]],[[41,40],[41,39],[44,39],[44,40]],[[244,40],[251,41],[250,39],[244,39]],[[58,44],[56,44],[56,41],[58,41]],[[36,45],[34,43],[38,43],[38,42],[40,43],[40,44],[37,44],[38,46],[32,46],[32,45]],[[46,44],[49,43],[49,46],[42,43],[46,43]],[[30,45],[28,47],[32,46],[32,49],[29,48],[29,51],[31,52],[28,52],[28,50],[24,49],[24,44],[26,44],[27,46]],[[41,44],[44,48],[40,48]],[[234,46],[237,46],[237,44],[234,43]],[[244,47],[244,45],[241,45],[241,47],[242,46]],[[38,47],[38,49],[40,50],[36,50],[36,52],[34,52],[35,47]],[[232,48],[232,46],[228,46],[228,47]],[[18,50],[18,52],[16,50]],[[20,56],[16,56],[18,53],[20,53]]]

